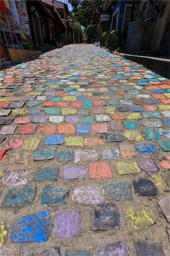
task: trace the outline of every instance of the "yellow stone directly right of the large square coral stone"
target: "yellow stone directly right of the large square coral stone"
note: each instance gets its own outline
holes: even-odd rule
[[[137,174],[138,172],[141,172],[137,162],[117,162],[116,167],[119,175]]]

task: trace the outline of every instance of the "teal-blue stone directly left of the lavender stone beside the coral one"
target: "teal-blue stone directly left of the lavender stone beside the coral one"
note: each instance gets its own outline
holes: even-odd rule
[[[33,180],[57,180],[58,170],[57,168],[40,168],[39,171],[33,176]]]

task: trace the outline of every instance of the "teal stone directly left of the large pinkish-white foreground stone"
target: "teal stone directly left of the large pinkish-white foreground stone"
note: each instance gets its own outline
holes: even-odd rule
[[[42,205],[56,205],[65,204],[70,195],[70,189],[46,187],[42,190],[41,204]]]

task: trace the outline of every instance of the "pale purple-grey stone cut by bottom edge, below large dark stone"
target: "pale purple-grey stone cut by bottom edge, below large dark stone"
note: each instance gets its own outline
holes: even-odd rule
[[[116,255],[116,256],[128,256],[128,251],[124,241],[115,240],[113,242],[105,243],[97,247],[96,256],[104,255]]]

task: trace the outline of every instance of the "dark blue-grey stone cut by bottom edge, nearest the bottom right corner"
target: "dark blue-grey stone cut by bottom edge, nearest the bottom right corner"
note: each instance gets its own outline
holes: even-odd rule
[[[164,249],[160,243],[150,243],[142,240],[134,240],[138,256],[165,256]]]

